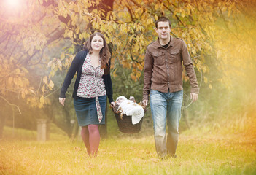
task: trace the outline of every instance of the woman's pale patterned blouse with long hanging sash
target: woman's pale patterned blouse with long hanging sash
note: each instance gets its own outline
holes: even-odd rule
[[[77,89],[77,96],[83,98],[96,98],[96,107],[98,114],[98,121],[101,123],[102,112],[98,101],[98,96],[106,95],[104,80],[102,78],[104,69],[101,66],[93,67],[90,63],[90,54],[88,53],[85,62],[82,65],[82,74]]]

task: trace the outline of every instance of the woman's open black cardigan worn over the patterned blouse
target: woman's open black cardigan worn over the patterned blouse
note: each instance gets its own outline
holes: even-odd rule
[[[65,80],[63,82],[62,88],[61,88],[61,98],[66,98],[66,90],[68,90],[69,85],[74,77],[74,74],[77,72],[77,79],[74,83],[74,91],[73,91],[73,98],[77,98],[77,89],[80,82],[81,74],[82,74],[82,64],[85,61],[86,55],[88,51],[82,50],[77,52],[77,55],[74,57],[74,60],[71,63],[71,66],[69,68],[68,73],[66,74]],[[110,77],[110,68],[109,66],[104,69],[104,75],[102,78],[104,79],[105,89],[106,89],[106,96],[109,98],[109,103],[111,103],[113,100],[113,89],[112,89],[112,81]]]

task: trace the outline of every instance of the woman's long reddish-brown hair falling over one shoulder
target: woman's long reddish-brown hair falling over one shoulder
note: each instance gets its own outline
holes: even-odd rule
[[[93,37],[96,35],[100,36],[103,39],[104,47],[100,51],[100,59],[101,59],[101,69],[104,69],[104,68],[106,68],[106,66],[109,66],[109,59],[111,56],[110,52],[109,52],[109,47],[106,44],[106,39],[105,39],[104,35],[99,32],[92,34],[90,36],[90,38],[85,42],[84,49],[88,50],[90,54],[93,52],[93,49],[90,45],[91,45]]]

